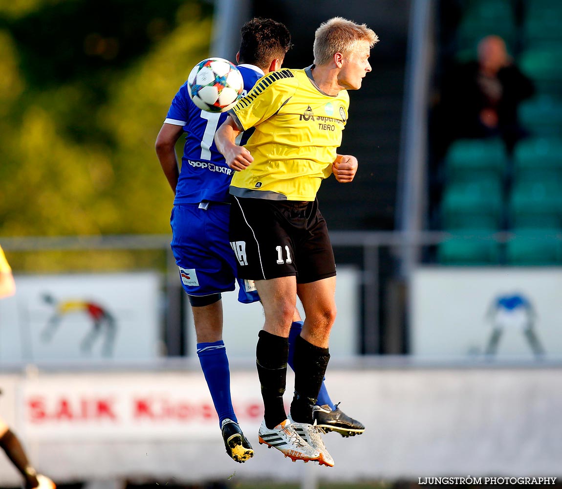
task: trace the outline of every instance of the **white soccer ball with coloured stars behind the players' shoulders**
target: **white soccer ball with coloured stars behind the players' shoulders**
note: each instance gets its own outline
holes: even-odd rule
[[[230,61],[207,58],[191,70],[187,89],[197,107],[209,112],[226,112],[242,97],[244,80]]]

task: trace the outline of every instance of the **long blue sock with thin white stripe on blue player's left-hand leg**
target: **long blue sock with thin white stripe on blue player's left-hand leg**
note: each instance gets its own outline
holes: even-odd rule
[[[214,343],[197,343],[197,356],[215,405],[216,414],[219,415],[219,425],[226,418],[238,423],[230,398],[230,370],[223,340]]]

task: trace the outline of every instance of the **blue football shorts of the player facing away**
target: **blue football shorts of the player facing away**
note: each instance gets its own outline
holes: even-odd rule
[[[171,212],[172,252],[185,292],[190,296],[233,291],[236,257],[228,239],[230,205],[178,204]],[[260,300],[253,282],[238,279],[238,301]]]

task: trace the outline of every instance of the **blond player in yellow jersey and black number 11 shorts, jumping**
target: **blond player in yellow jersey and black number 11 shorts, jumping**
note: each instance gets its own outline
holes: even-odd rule
[[[314,64],[284,69],[256,82],[215,134],[219,151],[237,171],[230,185],[230,244],[238,276],[255,280],[265,311],[256,348],[264,399],[260,443],[293,460],[333,466],[313,407],[328,365],[336,318],[336,265],[316,192],[332,173],[351,182],[357,160],[338,155],[348,118],[347,90],[371,71],[377,35],[366,25],[334,17],[316,30]],[[244,147],[235,138],[254,132]],[[283,406],[288,341],[296,298],[306,319],[294,346],[294,397]]]

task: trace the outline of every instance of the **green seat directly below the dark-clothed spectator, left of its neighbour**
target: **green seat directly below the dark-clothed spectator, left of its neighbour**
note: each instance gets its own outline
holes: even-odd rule
[[[459,139],[445,157],[448,181],[504,178],[507,168],[505,145],[501,139]]]

